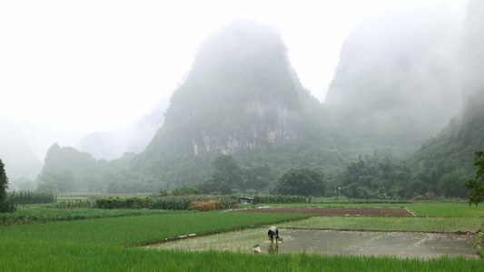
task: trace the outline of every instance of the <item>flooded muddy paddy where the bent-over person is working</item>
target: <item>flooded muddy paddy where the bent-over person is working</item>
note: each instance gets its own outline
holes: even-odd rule
[[[232,250],[252,253],[308,252],[322,255],[365,255],[395,257],[478,257],[472,248],[473,235],[421,232],[370,232],[315,229],[280,230],[282,242],[267,239],[266,228],[249,228],[222,234],[153,245],[148,248],[181,250]]]

